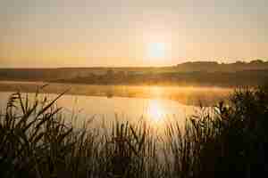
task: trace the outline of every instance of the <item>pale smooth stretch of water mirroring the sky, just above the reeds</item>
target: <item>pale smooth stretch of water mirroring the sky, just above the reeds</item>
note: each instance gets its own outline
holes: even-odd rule
[[[155,93],[159,93],[159,88],[154,88]],[[8,96],[11,93],[0,92],[0,111],[4,109]],[[32,101],[34,93],[29,94]],[[47,96],[49,101],[54,100],[56,94],[40,94],[41,98]],[[23,96],[24,97],[24,96]],[[40,99],[41,100],[41,99]],[[140,120],[148,121],[148,124],[157,128],[163,128],[166,122],[175,120],[183,124],[186,117],[193,114],[194,106],[180,104],[178,101],[163,100],[161,98],[142,99],[124,97],[98,97],[98,96],[74,96],[63,95],[56,105],[63,108],[63,117],[69,119],[73,114],[76,125],[83,123],[94,117],[92,127],[99,125],[113,125],[115,121],[122,123],[137,123]],[[116,117],[117,116],[117,117]],[[71,121],[71,120],[70,120]]]

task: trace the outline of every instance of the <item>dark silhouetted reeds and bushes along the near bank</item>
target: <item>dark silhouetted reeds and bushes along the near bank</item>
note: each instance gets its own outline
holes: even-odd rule
[[[60,97],[61,95],[59,95]],[[255,177],[268,171],[268,89],[166,125],[75,128],[54,101],[14,93],[0,117],[0,177]]]

